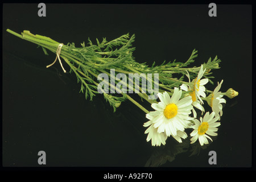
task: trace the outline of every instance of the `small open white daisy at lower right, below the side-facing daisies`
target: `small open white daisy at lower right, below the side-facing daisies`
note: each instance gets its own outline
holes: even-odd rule
[[[195,143],[198,139],[201,146],[204,144],[208,144],[208,139],[212,140],[208,135],[210,136],[217,136],[217,133],[215,133],[218,129],[217,127],[220,126],[220,122],[216,122],[218,120],[218,117],[214,118],[215,113],[212,112],[212,114],[209,114],[209,112],[205,113],[204,118],[200,117],[200,121],[195,119],[195,125],[192,126],[191,135],[191,143]]]

